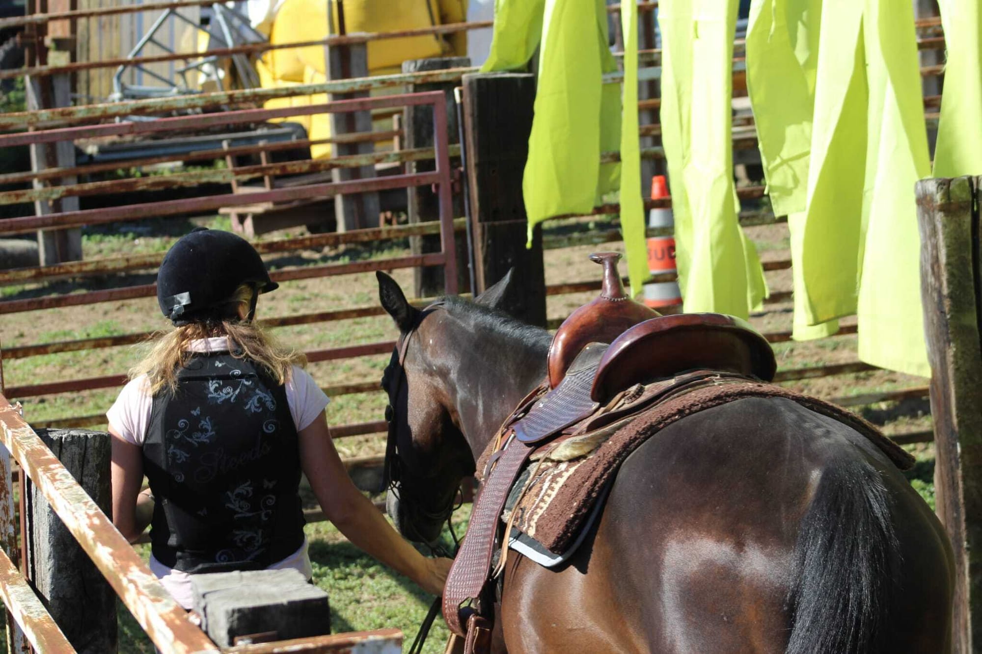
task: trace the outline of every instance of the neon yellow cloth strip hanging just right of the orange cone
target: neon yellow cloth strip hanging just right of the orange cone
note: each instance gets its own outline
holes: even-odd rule
[[[733,177],[736,0],[662,0],[662,143],[685,311],[746,318],[766,297],[737,222]]]

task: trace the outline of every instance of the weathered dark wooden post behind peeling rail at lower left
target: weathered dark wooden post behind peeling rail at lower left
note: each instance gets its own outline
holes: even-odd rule
[[[111,515],[109,434],[86,429],[36,431],[92,501]],[[116,593],[44,496],[29,481],[27,489],[23,534],[27,577],[79,652],[115,652]]]

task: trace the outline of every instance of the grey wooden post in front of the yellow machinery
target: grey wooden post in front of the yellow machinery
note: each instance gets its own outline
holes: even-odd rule
[[[330,14],[328,5],[328,14]],[[338,11],[343,5],[338,3]],[[333,32],[329,32],[333,33]],[[341,29],[339,33],[345,33]],[[368,50],[364,43],[349,45],[325,46],[327,58],[327,80],[351,80],[368,77]],[[347,98],[368,97],[368,91],[357,93],[333,93],[328,99],[342,100]],[[331,135],[341,136],[355,132],[371,132],[371,112],[355,111],[345,114],[330,114]],[[339,157],[347,154],[370,154],[375,143],[363,141],[359,143],[332,143],[331,154]],[[375,177],[374,166],[360,168],[335,168],[331,171],[334,182],[348,180],[364,180]],[[377,192],[355,193],[354,195],[335,195],[334,212],[338,221],[338,232],[361,230],[378,227],[378,217],[381,213]]]

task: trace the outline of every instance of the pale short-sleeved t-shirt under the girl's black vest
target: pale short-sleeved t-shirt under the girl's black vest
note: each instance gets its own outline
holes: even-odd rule
[[[228,352],[229,342],[224,336],[192,341],[191,352]],[[286,383],[287,404],[294,418],[297,431],[310,425],[320,412],[327,407],[330,399],[317,386],[317,382],[306,370],[294,366],[293,374]],[[146,427],[150,423],[150,411],[153,409],[153,397],[146,384],[146,376],[140,375],[132,379],[120,391],[112,408],[106,411],[109,426],[128,443],[143,447]],[[307,578],[313,573],[310,559],[307,557],[307,542],[303,539],[300,549],[283,561],[269,566],[269,570],[294,568]],[[150,571],[160,578],[174,599],[186,609],[191,609],[191,574],[168,568],[150,555]]]

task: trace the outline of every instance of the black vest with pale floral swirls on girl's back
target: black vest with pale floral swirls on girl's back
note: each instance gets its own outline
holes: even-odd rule
[[[193,354],[153,399],[143,471],[153,556],[182,572],[261,570],[303,543],[300,452],[286,389],[229,353]]]

